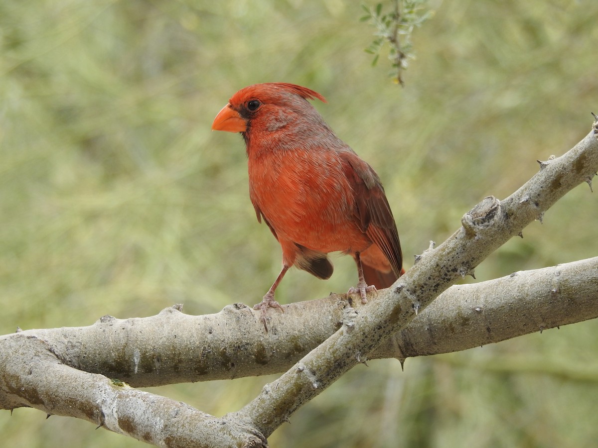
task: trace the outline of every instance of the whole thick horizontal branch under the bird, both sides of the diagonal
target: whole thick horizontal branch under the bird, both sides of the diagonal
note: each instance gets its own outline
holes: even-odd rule
[[[355,312],[367,312],[378,299],[355,302]],[[251,308],[235,304],[217,314],[191,316],[169,307],[152,317],[26,330],[0,337],[0,349],[11,352],[11,339],[32,337],[66,366],[135,387],[269,375],[288,370],[338,330],[348,303],[332,294],[284,306],[285,314],[273,314],[269,337]],[[369,358],[454,352],[596,317],[598,257],[450,287]],[[0,399],[2,409],[20,403]]]

